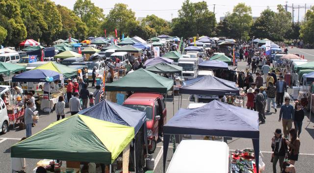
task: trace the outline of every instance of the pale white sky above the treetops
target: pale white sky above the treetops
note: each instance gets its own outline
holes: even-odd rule
[[[73,9],[73,5],[76,0],[52,0],[56,4],[66,6]],[[114,7],[115,3],[125,3],[135,11],[136,17],[146,17],[147,15],[155,14],[160,18],[167,21],[171,21],[172,18],[178,17],[178,10],[181,8],[184,0],[91,0],[94,4],[104,9],[104,14],[108,14],[110,9]],[[191,2],[198,2],[201,0],[190,0]],[[270,9],[276,10],[277,4],[286,4],[286,0],[205,0],[208,4],[209,10],[213,11],[215,5],[216,20],[219,21],[219,17],[223,17],[228,11],[232,11],[233,7],[239,3],[244,2],[246,5],[251,6],[252,16],[260,16],[261,12],[269,6]],[[312,2],[311,2],[312,1]],[[305,15],[305,4],[307,9],[310,5],[314,5],[313,0],[288,0],[288,6],[300,5],[299,20],[302,21]],[[303,7],[303,8],[301,8]],[[288,11],[291,12],[292,8],[288,7]],[[298,21],[298,9],[294,10],[294,21]]]

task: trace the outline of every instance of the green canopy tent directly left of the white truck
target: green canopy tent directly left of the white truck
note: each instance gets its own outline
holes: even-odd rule
[[[146,67],[145,70],[153,73],[181,73],[183,68],[178,65],[160,62],[155,65]]]

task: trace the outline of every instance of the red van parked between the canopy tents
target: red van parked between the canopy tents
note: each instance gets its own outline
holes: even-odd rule
[[[146,112],[148,152],[154,153],[158,136],[162,136],[167,121],[167,110],[163,96],[155,92],[135,92],[123,103],[124,106]]]

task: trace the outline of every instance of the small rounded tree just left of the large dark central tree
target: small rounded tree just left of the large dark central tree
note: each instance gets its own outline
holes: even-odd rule
[[[152,35],[149,35],[149,37],[155,36],[155,34],[166,34],[168,35],[171,32],[170,25],[167,21],[164,19],[161,19],[157,17],[156,15],[147,15],[142,21],[141,21],[142,27],[149,27],[151,29],[154,29],[155,32]]]

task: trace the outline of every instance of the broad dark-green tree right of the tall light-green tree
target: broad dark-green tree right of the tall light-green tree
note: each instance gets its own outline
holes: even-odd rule
[[[268,38],[272,41],[283,41],[287,32],[291,34],[291,17],[282,5],[277,6],[277,12],[267,8],[251,27],[251,34],[257,38]]]

